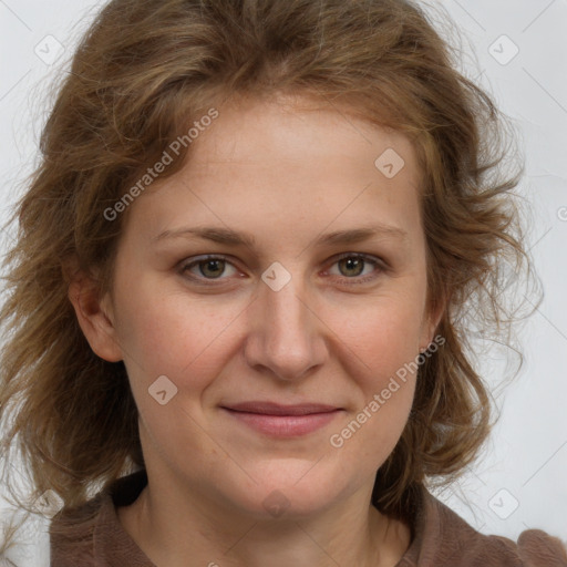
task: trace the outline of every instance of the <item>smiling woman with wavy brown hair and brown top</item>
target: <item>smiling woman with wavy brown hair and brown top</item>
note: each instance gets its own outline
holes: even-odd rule
[[[2,312],[51,565],[565,565],[426,489],[489,431],[465,308],[526,261],[497,126],[410,2],[110,2]]]

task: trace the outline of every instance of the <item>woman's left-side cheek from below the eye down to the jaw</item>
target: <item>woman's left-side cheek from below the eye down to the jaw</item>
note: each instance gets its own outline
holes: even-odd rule
[[[203,435],[207,425],[200,402],[203,392],[234,355],[230,326],[243,307],[227,303],[215,308],[213,301],[189,301],[183,292],[167,293],[138,284],[120,303],[118,334],[143,445],[151,446],[172,467],[178,464],[175,455],[179,455],[179,447],[203,457],[218,453]],[[158,401],[162,391],[164,404]],[[212,474],[208,456],[199,464],[207,475]]]

